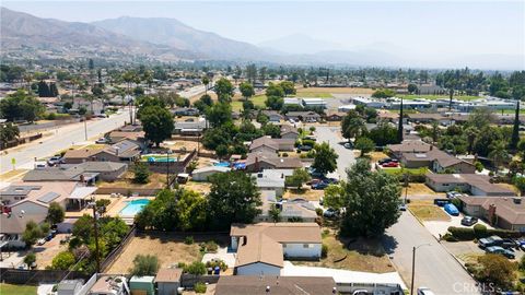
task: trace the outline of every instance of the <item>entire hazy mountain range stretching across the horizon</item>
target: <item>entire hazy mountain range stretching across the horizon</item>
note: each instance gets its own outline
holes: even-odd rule
[[[474,67],[516,69],[523,57],[492,55],[442,58],[428,63],[424,56],[377,43],[346,48],[336,43],[292,34],[257,46],[188,26],[174,19],[130,17],[92,23],[42,19],[1,8],[2,57],[141,58],[159,61],[229,60],[287,64],[347,64],[355,67]],[[487,67],[489,66],[489,67]]]

